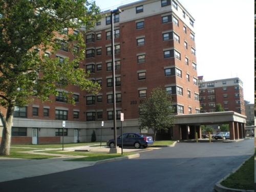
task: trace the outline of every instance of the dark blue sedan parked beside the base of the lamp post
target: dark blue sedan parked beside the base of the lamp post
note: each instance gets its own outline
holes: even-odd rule
[[[140,148],[143,146],[146,148],[148,145],[154,144],[153,138],[151,136],[146,136],[141,133],[125,133],[122,136],[117,137],[117,146],[121,146],[123,138],[123,146],[134,146],[135,148]],[[111,148],[115,147],[114,139],[110,139],[106,142],[106,145]]]

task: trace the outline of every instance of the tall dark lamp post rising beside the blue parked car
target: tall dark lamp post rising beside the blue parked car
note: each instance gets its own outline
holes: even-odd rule
[[[115,44],[114,44],[114,15],[121,13],[120,9],[111,11],[111,44],[112,44],[112,84],[113,84],[113,123],[114,123],[114,142],[117,148],[116,138],[116,78],[115,78]]]

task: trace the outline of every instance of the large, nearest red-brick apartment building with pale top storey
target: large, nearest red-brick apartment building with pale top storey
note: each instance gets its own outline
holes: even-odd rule
[[[199,114],[193,16],[179,1],[173,0],[138,1],[119,9],[122,12],[114,17],[115,97],[117,119],[124,113],[124,132],[139,132],[138,106],[157,87],[172,94],[175,114]],[[102,121],[102,140],[113,138],[110,11],[102,14],[105,16],[84,37],[86,60],[79,63],[80,68],[91,72],[91,80],[101,84],[100,93],[93,95],[70,86],[65,91],[74,92],[75,105],[66,103],[59,95],[52,96],[51,103],[41,103],[35,97],[25,108],[15,108],[12,143],[60,143],[62,130],[64,142],[91,141],[93,130],[99,140]],[[70,57],[65,49],[49,56],[59,57],[60,62]],[[236,110],[244,112],[242,106],[236,105]],[[231,110],[231,105],[228,108]],[[120,121],[117,121],[119,135]],[[179,139],[178,131],[175,133]]]

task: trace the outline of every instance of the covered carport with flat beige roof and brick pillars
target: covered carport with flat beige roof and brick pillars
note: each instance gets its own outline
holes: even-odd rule
[[[229,124],[230,140],[242,139],[245,133],[246,116],[233,111],[176,115],[173,127],[175,140],[195,139],[196,133],[201,137],[201,125]]]

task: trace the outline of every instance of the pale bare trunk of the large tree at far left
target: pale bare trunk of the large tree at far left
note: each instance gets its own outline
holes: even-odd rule
[[[14,105],[8,106],[6,117],[1,113],[0,118],[3,123],[3,135],[0,146],[0,155],[10,155],[11,129]]]

